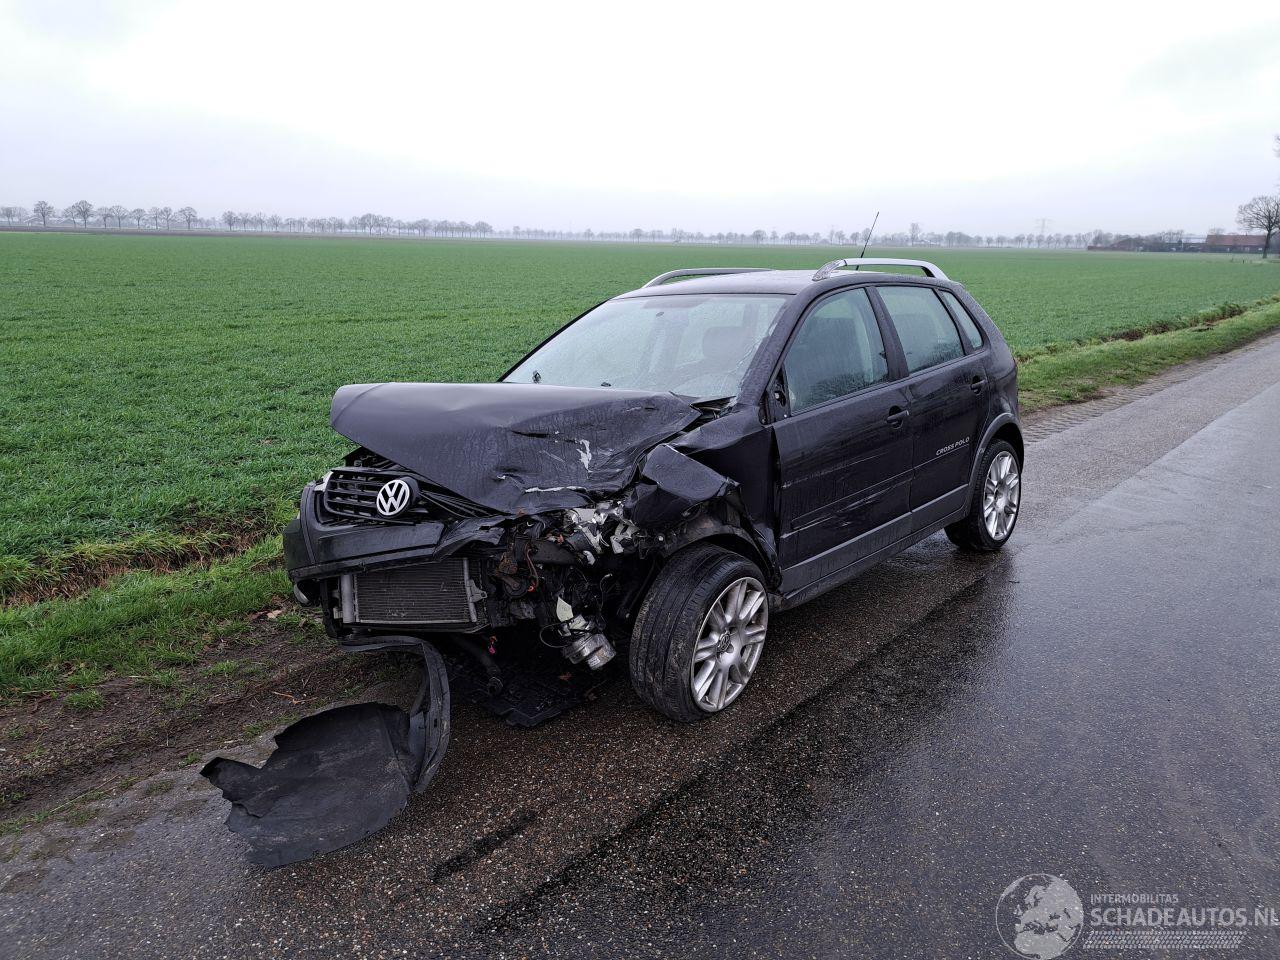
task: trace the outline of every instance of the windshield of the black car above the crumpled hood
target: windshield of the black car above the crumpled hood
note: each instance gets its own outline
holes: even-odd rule
[[[562,387],[736,397],[786,296],[713,293],[611,300],[534,351],[504,379]]]

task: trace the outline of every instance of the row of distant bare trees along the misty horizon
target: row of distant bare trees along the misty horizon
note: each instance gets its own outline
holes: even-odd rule
[[[357,216],[280,216],[225,210],[218,216],[201,216],[195,207],[184,206],[174,210],[168,206],[127,207],[119,204],[96,206],[87,200],[78,200],[69,206],[58,209],[52,204],[37,200],[31,209],[24,206],[0,206],[0,221],[6,227],[32,229],[116,229],[116,230],[229,230],[233,233],[292,233],[320,236],[367,236],[367,237],[465,237],[486,239],[561,239],[561,241],[602,241],[630,243],[723,243],[723,244],[786,244],[786,246],[863,246],[874,243],[878,247],[1014,247],[1032,250],[1084,250],[1088,247],[1111,247],[1125,250],[1180,250],[1184,243],[1183,230],[1164,230],[1155,234],[1115,234],[1106,230],[1085,233],[998,233],[973,234],[964,230],[940,233],[925,230],[919,223],[910,229],[896,233],[878,233],[874,237],[869,229],[855,230],[812,230],[800,233],[787,230],[756,229],[750,233],[690,232],[678,227],[667,230],[644,229],[595,232],[548,230],[532,227],[512,227],[509,230],[497,230],[489,223],[477,220],[402,220],[381,214],[360,214]],[[1240,207],[1238,221],[1245,229],[1258,229],[1268,238],[1280,230],[1280,198],[1257,197]],[[1263,248],[1266,250],[1266,247]],[[1263,256],[1266,253],[1263,252]]]

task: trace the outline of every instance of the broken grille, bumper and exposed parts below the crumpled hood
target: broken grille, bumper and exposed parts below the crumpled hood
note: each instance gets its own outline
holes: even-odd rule
[[[378,492],[398,479],[420,492],[413,506],[374,516]],[[424,477],[364,449],[307,488],[285,556],[298,598],[320,607],[330,636],[490,635],[526,622],[575,662],[612,658],[605,621],[620,561],[650,547],[621,502],[515,516],[442,503]]]

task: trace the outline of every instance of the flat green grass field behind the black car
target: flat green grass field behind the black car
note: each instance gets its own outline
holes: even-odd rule
[[[237,616],[279,590],[278,572],[264,572],[271,550],[243,550],[274,540],[302,483],[348,447],[328,426],[337,387],[492,379],[563,321],[663,270],[817,268],[838,255],[850,251],[0,234],[0,594],[125,573],[4,611],[0,687],[77,669],[73,641],[101,650],[82,660],[105,668],[148,637],[198,643],[192,617]],[[1208,256],[925,256],[1029,360],[1037,402],[1280,323],[1181,330],[1171,351],[1157,338],[1094,346],[1076,364],[1069,344],[1193,328],[1201,311],[1271,297],[1280,270]]]

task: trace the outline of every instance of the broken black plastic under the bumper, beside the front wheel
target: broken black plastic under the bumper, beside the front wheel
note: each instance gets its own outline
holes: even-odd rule
[[[513,727],[536,727],[591,700],[609,678],[608,671],[573,669],[558,652],[540,644],[520,644],[499,653],[504,684],[500,692],[490,694],[489,676],[474,658],[447,648],[444,659],[456,700],[484,707]]]

